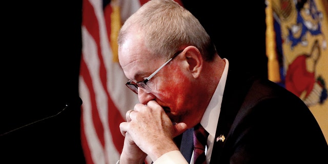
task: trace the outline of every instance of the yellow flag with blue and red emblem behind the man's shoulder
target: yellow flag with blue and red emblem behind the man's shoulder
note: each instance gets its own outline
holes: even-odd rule
[[[328,2],[266,3],[269,79],[304,101],[328,142]]]

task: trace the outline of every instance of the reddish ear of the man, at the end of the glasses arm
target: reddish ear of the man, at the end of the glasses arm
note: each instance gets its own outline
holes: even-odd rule
[[[188,46],[185,48],[185,57],[189,64],[189,71],[197,78],[202,70],[203,67],[203,59],[198,50],[198,48],[194,46]]]

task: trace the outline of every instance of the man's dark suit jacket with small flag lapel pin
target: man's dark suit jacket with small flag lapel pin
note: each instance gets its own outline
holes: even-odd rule
[[[328,163],[328,146],[301,99],[268,79],[229,66],[211,163]],[[175,138],[192,154],[192,129]],[[181,141],[181,142],[180,142]]]

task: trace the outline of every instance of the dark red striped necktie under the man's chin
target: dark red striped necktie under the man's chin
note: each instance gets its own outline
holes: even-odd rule
[[[200,125],[194,127],[194,164],[206,163],[205,146],[209,133]]]

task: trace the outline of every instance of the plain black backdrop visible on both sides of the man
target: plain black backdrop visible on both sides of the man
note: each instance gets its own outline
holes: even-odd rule
[[[221,57],[267,77],[264,1],[182,1]],[[12,2],[2,18],[1,163],[85,163],[78,73],[82,1]],[[55,115],[57,116],[31,122]]]

